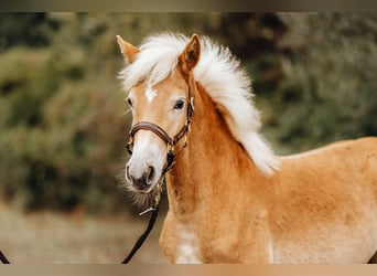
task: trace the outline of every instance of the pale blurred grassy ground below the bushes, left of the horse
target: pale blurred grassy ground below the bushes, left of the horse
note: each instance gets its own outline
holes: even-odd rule
[[[157,224],[131,263],[164,263]],[[117,264],[133,246],[148,224],[143,217],[88,216],[51,211],[23,213],[0,204],[0,250],[14,264]]]

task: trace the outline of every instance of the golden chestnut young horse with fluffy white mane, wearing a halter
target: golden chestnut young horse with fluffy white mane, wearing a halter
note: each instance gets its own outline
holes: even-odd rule
[[[148,203],[165,173],[160,247],[169,263],[374,256],[377,138],[278,157],[258,131],[250,78],[227,47],[196,34],[160,33],[140,47],[117,41],[133,115],[127,185]]]

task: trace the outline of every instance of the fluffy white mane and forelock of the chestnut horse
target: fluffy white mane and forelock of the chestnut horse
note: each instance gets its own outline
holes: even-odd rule
[[[129,91],[148,77],[154,85],[169,76],[177,65],[177,57],[188,38],[162,33],[149,36],[139,47],[136,61],[120,74]],[[267,176],[279,168],[279,160],[259,134],[259,112],[252,103],[251,81],[227,47],[208,38],[201,39],[201,59],[194,78],[217,105],[234,138],[243,145],[255,164]]]

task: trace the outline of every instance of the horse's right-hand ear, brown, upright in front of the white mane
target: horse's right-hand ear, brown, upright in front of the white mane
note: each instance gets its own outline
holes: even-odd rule
[[[184,73],[191,72],[201,57],[201,42],[196,34],[191,36],[187,45],[179,57],[180,66]]]

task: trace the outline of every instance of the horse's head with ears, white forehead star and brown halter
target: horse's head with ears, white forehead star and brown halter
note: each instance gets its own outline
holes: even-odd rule
[[[164,53],[164,59],[155,50],[139,50],[120,36],[117,39],[128,64],[123,77],[133,116],[129,142],[132,156],[125,174],[129,189],[143,198],[153,193],[173,162],[175,146],[184,144],[190,129],[192,70],[201,46],[193,35],[174,59],[168,57],[172,53]]]

